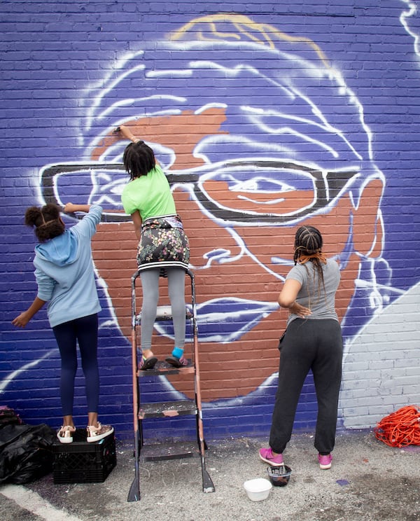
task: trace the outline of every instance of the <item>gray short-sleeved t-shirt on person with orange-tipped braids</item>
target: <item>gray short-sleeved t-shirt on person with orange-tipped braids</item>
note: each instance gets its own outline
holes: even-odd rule
[[[309,307],[311,315],[308,319],[335,319],[338,321],[335,311],[335,292],[340,279],[339,267],[336,261],[327,259],[322,264],[323,283],[314,268],[314,264],[308,261],[305,264],[297,264],[288,272],[287,279],[297,280],[302,284],[297,293],[296,302],[304,307]],[[296,314],[290,314],[287,324],[298,319]]]

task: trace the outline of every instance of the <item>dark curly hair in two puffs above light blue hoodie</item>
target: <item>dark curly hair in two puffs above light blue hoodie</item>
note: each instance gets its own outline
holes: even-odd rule
[[[35,227],[34,232],[39,242],[47,242],[66,230],[60,218],[60,208],[52,203],[41,208],[29,207],[25,212],[25,224]]]

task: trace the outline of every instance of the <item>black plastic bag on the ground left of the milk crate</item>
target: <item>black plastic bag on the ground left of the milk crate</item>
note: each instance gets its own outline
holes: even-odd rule
[[[8,424],[0,429],[0,484],[24,485],[52,472],[55,431],[48,425]]]

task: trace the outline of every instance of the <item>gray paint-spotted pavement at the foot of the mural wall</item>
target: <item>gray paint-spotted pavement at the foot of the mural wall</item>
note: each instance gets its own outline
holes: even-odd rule
[[[209,441],[206,467],[215,492],[202,492],[199,458],[140,464],[140,501],[127,502],[132,446],[117,442],[117,466],[103,483],[54,485],[52,474],[0,487],[3,521],[420,521],[420,446],[388,447],[371,431],[337,435],[332,468],[318,466],[313,437],[295,433],[284,458],[286,487],[253,502],[244,481],[266,478],[258,449],[267,439]]]

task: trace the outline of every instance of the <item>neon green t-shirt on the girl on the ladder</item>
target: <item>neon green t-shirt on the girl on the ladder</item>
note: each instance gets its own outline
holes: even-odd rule
[[[174,197],[167,177],[159,165],[146,176],[137,177],[128,183],[121,195],[126,214],[139,210],[141,221],[151,217],[175,215]]]

